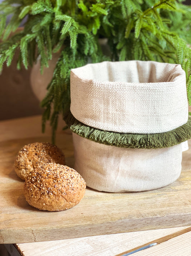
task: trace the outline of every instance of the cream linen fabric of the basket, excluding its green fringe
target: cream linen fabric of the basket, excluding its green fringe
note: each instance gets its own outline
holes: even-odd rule
[[[87,64],[71,70],[70,110],[97,133],[165,135],[188,121],[185,72],[178,64],[152,61]],[[131,148],[120,141],[109,145],[75,133],[75,169],[90,188],[151,190],[180,175],[182,141],[171,147]]]

